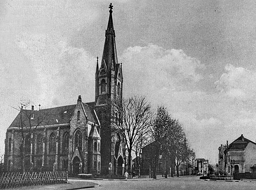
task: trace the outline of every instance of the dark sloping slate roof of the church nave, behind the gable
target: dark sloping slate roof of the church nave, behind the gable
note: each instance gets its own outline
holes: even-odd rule
[[[96,123],[98,125],[98,119],[92,107],[93,102],[89,102],[89,103],[82,102],[82,105],[84,106],[85,113],[88,116],[89,121],[92,123]],[[22,111],[23,127],[30,126],[29,120],[32,122],[32,126],[57,125],[57,124],[69,123],[75,108],[76,108],[76,104],[60,106],[56,108],[35,110],[34,119],[28,119],[29,117],[32,117],[32,110],[23,109]],[[16,118],[11,123],[9,128],[19,127],[19,126],[20,126],[20,113],[16,116]]]

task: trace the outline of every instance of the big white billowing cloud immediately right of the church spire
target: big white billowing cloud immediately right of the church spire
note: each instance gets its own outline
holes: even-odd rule
[[[121,59],[125,75],[127,94],[139,92],[147,96],[156,94],[170,95],[170,90],[180,89],[180,84],[189,84],[203,79],[199,71],[204,64],[185,55],[179,49],[164,49],[154,44],[145,47],[129,47],[123,52]],[[133,75],[133,77],[129,77]],[[130,84],[133,84],[130,88]]]

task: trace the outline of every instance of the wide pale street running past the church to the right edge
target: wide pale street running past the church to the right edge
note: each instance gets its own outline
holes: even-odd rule
[[[71,179],[69,181],[82,181]],[[205,181],[199,180],[199,176],[193,177],[175,177],[168,179],[139,179],[139,180],[84,180],[86,182],[93,182],[100,185],[95,189],[256,189],[256,181]]]

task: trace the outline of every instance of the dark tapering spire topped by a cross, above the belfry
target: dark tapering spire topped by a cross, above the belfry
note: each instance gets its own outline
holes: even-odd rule
[[[115,64],[117,64],[118,61],[117,61],[117,49],[115,47],[115,31],[114,31],[114,24],[113,24],[113,18],[112,18],[112,13],[113,13],[112,3],[110,3],[109,9],[110,9],[109,22],[108,22],[108,27],[106,29],[106,34],[105,34],[105,44],[104,44],[104,51],[102,55],[101,65],[105,64],[107,67],[107,70],[111,71],[115,69]]]

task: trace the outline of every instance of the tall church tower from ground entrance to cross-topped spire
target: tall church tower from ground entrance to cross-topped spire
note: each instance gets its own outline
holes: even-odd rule
[[[122,63],[117,60],[115,31],[112,18],[112,3],[109,6],[109,22],[105,33],[105,44],[101,65],[96,65],[95,73],[95,110],[101,122],[101,173],[122,174],[124,163],[122,138],[114,134],[114,127],[121,119],[109,103],[116,98],[122,99]]]

